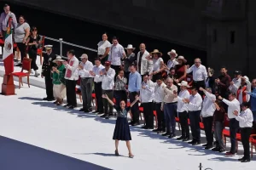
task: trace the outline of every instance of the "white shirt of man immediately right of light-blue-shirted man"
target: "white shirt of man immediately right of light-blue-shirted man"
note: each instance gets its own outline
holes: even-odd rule
[[[154,100],[154,87],[150,86],[150,82],[142,82],[142,87],[145,87],[145,89],[141,88],[140,90],[140,100],[141,103],[148,103],[153,102]]]

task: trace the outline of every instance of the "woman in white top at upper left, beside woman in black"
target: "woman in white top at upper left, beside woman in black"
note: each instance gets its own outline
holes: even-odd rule
[[[30,26],[26,23],[24,16],[20,15],[19,24],[15,27],[15,42],[20,50],[21,59],[20,63],[16,66],[21,66],[23,58],[26,57],[26,42],[29,37],[29,33]]]

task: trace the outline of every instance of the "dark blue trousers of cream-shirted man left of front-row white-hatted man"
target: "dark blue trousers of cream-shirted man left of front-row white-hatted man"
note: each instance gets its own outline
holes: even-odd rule
[[[177,111],[177,103],[167,103],[164,105],[164,114],[166,118],[166,133],[175,134],[176,120],[175,113]]]

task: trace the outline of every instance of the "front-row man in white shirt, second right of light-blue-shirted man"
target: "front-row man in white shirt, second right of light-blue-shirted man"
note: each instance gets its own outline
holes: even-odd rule
[[[162,79],[158,79],[154,86],[154,108],[157,115],[157,128],[153,130],[153,132],[165,133],[166,132],[166,120],[164,111],[161,111],[161,105],[164,99],[164,88],[166,84]]]

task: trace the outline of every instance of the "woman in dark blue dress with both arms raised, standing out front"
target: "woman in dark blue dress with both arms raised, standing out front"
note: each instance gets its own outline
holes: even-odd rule
[[[131,103],[131,106],[125,107],[125,101],[121,100],[119,105],[114,105],[113,101],[108,98],[107,94],[103,94],[102,98],[108,99],[108,102],[113,105],[113,108],[117,111],[117,120],[115,123],[114,131],[113,131],[113,140],[115,140],[115,155],[119,156],[119,140],[125,140],[126,146],[129,150],[129,157],[133,158],[131,153],[131,133],[130,127],[127,121],[127,114],[130,111],[132,105],[136,104],[139,100],[139,97],[136,96],[136,99]]]

